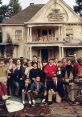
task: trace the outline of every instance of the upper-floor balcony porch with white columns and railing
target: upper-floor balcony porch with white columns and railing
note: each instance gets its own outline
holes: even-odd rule
[[[38,24],[28,26],[27,42],[50,43],[62,41],[62,34],[65,33],[61,24]]]

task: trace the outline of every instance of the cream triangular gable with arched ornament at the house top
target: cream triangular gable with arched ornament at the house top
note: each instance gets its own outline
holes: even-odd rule
[[[77,23],[82,19],[63,0],[49,2],[29,20],[30,23]]]

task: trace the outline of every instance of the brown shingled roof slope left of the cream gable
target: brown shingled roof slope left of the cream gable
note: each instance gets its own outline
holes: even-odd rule
[[[4,20],[3,24],[24,24],[24,22],[29,21],[43,6],[44,4],[30,5],[11,18]]]

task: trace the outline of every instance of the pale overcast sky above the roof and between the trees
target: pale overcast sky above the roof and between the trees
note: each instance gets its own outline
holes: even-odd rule
[[[35,4],[44,4],[47,3],[49,0],[19,0],[22,8],[26,8],[30,3]],[[64,0],[69,6],[73,7],[75,0]],[[8,4],[9,0],[2,0],[3,4]]]

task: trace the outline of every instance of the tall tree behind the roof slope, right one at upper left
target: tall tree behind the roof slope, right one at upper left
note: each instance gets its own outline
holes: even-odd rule
[[[21,11],[19,0],[10,0],[9,2],[9,13],[10,16],[17,14]]]

